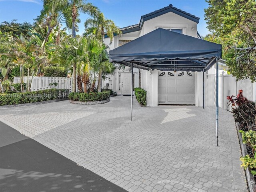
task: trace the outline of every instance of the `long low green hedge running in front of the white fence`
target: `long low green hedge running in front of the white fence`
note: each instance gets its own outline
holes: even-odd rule
[[[68,97],[67,89],[46,89],[25,93],[0,94],[0,106],[34,103]]]

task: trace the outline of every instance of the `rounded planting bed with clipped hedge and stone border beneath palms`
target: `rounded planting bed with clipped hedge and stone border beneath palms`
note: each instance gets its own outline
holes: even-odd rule
[[[68,98],[73,104],[103,104],[110,101],[110,92],[90,92],[90,93],[74,93],[71,92]]]

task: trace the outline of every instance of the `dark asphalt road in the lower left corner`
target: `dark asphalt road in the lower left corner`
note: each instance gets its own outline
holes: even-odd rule
[[[0,122],[1,192],[127,192]]]

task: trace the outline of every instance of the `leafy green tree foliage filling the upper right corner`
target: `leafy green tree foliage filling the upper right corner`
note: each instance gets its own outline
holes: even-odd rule
[[[212,37],[221,43],[223,58],[237,80],[256,81],[256,1],[206,0],[205,19]]]

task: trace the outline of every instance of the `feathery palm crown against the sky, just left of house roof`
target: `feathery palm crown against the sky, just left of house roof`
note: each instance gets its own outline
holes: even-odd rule
[[[96,36],[100,36],[102,42],[104,42],[105,32],[112,42],[114,35],[121,35],[121,30],[115,25],[114,21],[106,19],[103,13],[97,14],[92,18],[88,18],[84,22],[85,28],[96,28]]]

